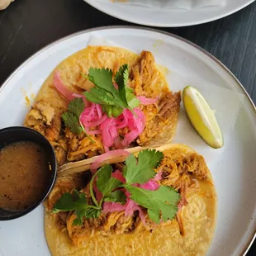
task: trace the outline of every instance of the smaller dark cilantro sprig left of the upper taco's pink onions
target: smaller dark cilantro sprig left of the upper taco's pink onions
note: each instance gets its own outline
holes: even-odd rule
[[[69,127],[74,134],[79,135],[84,132],[92,143],[94,143],[94,140],[92,140],[92,138],[84,130],[83,124],[79,121],[79,117],[83,112],[84,107],[83,99],[81,97],[76,97],[69,102],[68,111],[64,112],[61,117],[65,126]]]

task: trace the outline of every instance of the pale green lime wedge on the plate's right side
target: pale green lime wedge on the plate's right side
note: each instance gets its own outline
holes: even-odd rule
[[[223,145],[220,126],[214,111],[201,93],[192,86],[183,89],[183,105],[192,126],[197,130],[202,140],[212,148],[218,149]]]

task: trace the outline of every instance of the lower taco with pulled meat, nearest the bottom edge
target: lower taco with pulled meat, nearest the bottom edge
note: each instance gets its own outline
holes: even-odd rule
[[[216,189],[203,157],[186,145],[137,151],[57,179],[45,201],[53,256],[206,254]]]

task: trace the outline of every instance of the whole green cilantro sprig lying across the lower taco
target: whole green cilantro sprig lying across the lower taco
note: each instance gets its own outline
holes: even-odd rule
[[[126,165],[123,169],[126,183],[111,177],[111,165],[104,165],[93,175],[89,184],[92,205],[88,204],[83,192],[75,191],[74,195],[65,193],[60,197],[54,206],[54,212],[74,211],[77,218],[73,224],[81,224],[83,223],[83,217],[97,218],[100,216],[104,201],[116,201],[125,204],[126,196],[123,192],[125,188],[130,192],[132,200],[147,209],[149,219],[155,223],[159,223],[161,219],[164,221],[172,220],[178,211],[177,205],[180,200],[178,192],[173,187],[160,185],[159,189],[154,191],[137,187],[137,184],[147,183],[149,179],[154,178],[156,174],[154,168],[159,166],[163,158],[164,154],[155,149],[141,151],[137,159],[133,154],[130,154],[126,159]],[[97,189],[102,192],[102,199],[100,201],[97,201],[93,192],[93,184],[96,178]]]

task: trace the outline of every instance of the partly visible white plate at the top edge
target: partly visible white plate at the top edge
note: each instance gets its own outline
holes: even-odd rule
[[[205,7],[194,10],[154,9],[127,6],[116,2],[84,0],[92,7],[124,21],[146,26],[192,26],[226,17],[248,6],[254,0],[226,0],[225,7]]]

